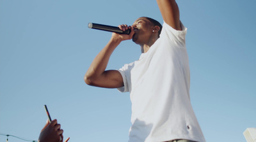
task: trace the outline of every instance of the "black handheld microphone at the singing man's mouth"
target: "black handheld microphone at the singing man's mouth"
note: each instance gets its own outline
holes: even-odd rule
[[[118,34],[130,34],[131,29],[127,29],[125,31],[122,31],[119,29],[119,27],[114,27],[111,25],[102,25],[102,24],[95,24],[95,23],[88,23],[88,27],[90,29],[99,29],[102,31],[108,31],[108,32],[116,32]]]

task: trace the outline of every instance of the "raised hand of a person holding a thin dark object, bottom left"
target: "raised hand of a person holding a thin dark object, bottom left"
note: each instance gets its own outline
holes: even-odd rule
[[[68,138],[69,139],[69,138]],[[66,139],[65,142],[68,141]],[[60,129],[60,124],[57,123],[57,120],[52,120],[51,123],[47,121],[44,128],[42,129],[38,142],[56,142],[63,141],[63,129]]]

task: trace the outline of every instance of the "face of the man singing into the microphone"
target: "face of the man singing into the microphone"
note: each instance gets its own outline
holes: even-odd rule
[[[140,17],[132,24],[134,27],[134,35],[132,37],[132,41],[136,44],[147,43],[152,34],[152,29],[154,26],[145,17]]]

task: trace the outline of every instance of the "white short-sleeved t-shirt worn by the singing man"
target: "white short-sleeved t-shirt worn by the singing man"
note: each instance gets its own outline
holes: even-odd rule
[[[148,52],[118,70],[124,79],[118,90],[131,93],[129,142],[205,141],[189,98],[187,28],[182,29],[164,23]]]

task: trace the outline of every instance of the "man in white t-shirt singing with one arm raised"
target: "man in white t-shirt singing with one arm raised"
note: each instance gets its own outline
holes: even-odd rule
[[[187,29],[180,22],[175,0],[157,0],[157,4],[164,20],[163,29],[148,17],[138,18],[132,26],[119,25],[124,31],[131,29],[131,33],[112,34],[84,81],[131,93],[129,142],[205,141],[189,97]],[[105,71],[111,53],[127,39],[141,46],[140,59],[119,70]]]

